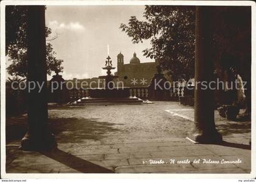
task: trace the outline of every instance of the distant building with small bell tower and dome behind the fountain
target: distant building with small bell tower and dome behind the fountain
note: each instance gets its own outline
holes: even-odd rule
[[[140,59],[135,52],[129,64],[124,64],[124,55],[121,52],[117,55],[117,61],[117,72],[115,72],[115,75],[118,75],[120,80],[146,79],[148,80],[147,83],[150,83],[150,80],[157,73],[155,61],[140,63]]]

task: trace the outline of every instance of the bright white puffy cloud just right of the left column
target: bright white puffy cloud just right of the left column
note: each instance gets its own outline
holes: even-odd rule
[[[65,23],[59,23],[58,21],[49,21],[48,26],[52,30],[71,30],[71,31],[84,31],[85,27],[80,24],[79,22],[69,22],[68,24]]]

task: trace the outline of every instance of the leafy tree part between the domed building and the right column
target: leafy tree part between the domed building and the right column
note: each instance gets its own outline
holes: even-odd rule
[[[146,57],[159,60],[160,67],[169,72],[172,80],[194,77],[194,7],[146,5],[144,18],[131,16],[128,25],[120,29],[132,37],[133,43],[151,39]]]

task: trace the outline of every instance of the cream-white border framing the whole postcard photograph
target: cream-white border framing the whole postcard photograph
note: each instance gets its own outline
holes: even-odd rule
[[[251,174],[202,174],[202,173],[6,173],[5,172],[5,5],[232,5],[251,6],[252,10],[252,172]],[[256,9],[254,1],[1,1],[1,177],[2,178],[255,178],[255,129],[256,129]],[[253,155],[254,154],[254,155]]]

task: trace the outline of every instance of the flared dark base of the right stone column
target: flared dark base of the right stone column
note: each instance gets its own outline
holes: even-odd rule
[[[193,132],[187,138],[197,144],[219,144],[222,142],[222,135],[217,130],[212,132]]]

